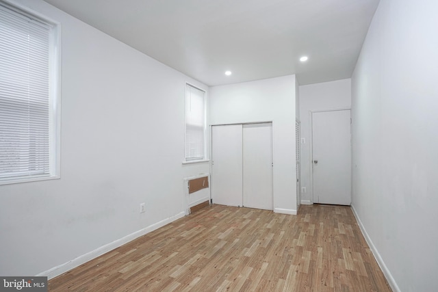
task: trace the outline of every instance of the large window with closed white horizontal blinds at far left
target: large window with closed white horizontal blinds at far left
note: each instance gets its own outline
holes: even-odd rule
[[[57,31],[0,3],[0,184],[57,177]]]

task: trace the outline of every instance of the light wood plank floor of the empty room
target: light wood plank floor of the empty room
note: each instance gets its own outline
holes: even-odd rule
[[[350,207],[213,205],[49,281],[49,291],[391,291]]]

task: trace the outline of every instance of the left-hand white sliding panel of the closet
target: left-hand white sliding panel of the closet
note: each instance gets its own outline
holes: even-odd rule
[[[211,198],[242,206],[242,124],[211,127]]]

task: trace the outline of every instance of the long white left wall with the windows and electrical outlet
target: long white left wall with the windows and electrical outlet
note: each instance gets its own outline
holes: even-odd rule
[[[183,215],[183,177],[209,172],[182,165],[185,81],[207,87],[44,1],[16,2],[62,24],[62,168],[0,186],[0,275],[54,276]]]

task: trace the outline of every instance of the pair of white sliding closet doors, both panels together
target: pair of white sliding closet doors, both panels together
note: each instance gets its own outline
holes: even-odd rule
[[[211,128],[213,202],[272,210],[272,123]]]

